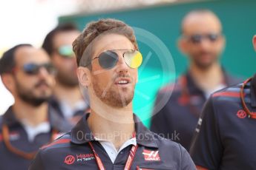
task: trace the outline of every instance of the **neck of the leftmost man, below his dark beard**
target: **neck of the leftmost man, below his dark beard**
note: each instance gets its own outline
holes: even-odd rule
[[[47,121],[48,105],[46,102],[40,106],[32,106],[17,99],[12,107],[16,119],[29,126],[37,126]]]

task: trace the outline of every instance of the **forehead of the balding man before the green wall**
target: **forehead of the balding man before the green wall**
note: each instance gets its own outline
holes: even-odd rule
[[[210,13],[195,13],[183,21],[183,32],[186,34],[220,33],[220,20]]]

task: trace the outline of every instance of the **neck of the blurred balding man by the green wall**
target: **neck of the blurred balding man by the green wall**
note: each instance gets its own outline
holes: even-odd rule
[[[191,64],[189,69],[191,77],[197,86],[203,91],[211,91],[223,84],[223,71],[220,64],[212,64],[211,67],[201,69],[194,64]]]

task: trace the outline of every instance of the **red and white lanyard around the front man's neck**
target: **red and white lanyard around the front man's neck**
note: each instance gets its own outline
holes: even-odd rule
[[[89,145],[91,146],[91,150],[93,151],[93,154],[94,154],[94,157],[96,159],[96,163],[97,163],[97,166],[98,166],[99,170],[105,170],[105,167],[103,166],[102,160],[100,159],[99,155],[96,153],[96,151],[95,151],[95,149],[93,147],[93,144],[91,142],[89,142]],[[138,148],[138,145],[131,147],[130,154],[129,154],[128,159],[126,160],[125,169],[124,170],[131,169],[131,164],[132,164],[132,162],[134,160],[137,148]]]

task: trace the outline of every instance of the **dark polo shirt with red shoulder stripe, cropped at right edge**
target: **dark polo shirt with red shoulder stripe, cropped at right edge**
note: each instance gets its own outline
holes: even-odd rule
[[[256,169],[256,120],[241,103],[242,84],[215,92],[198,121],[191,157],[206,169]],[[256,112],[256,76],[243,90],[246,106]],[[256,114],[256,113],[254,113]]]

